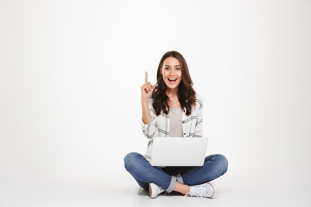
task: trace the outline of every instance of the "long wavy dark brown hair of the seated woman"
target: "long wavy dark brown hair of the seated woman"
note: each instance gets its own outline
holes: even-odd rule
[[[195,106],[195,91],[193,89],[193,82],[191,80],[191,76],[189,73],[189,69],[184,57],[176,52],[170,51],[166,52],[160,60],[159,66],[157,68],[156,73],[156,87],[152,93],[152,98],[154,99],[153,107],[156,111],[156,115],[158,116],[162,111],[164,114],[168,114],[169,106],[168,106],[168,96],[166,95],[166,84],[163,80],[161,74],[161,67],[164,60],[168,57],[176,58],[181,65],[181,75],[182,80],[178,85],[178,100],[180,102],[180,106],[182,109],[186,108],[186,115],[191,114],[191,107]]]

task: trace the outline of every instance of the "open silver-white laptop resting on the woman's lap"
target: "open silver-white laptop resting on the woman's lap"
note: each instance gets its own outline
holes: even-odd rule
[[[154,138],[152,166],[203,166],[208,138]]]

